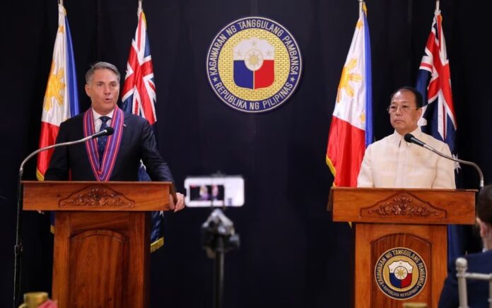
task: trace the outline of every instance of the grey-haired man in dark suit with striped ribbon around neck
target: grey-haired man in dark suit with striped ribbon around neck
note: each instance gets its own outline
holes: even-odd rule
[[[57,143],[90,136],[107,126],[115,132],[97,141],[56,148],[45,180],[136,181],[142,160],[153,181],[174,182],[147,120],[117,107],[119,79],[116,66],[106,62],[98,62],[87,71],[85,89],[90,108],[61,123]],[[174,211],[185,207],[182,194],[170,200]]]

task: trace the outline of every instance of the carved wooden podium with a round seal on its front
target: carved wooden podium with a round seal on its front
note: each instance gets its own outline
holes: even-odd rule
[[[474,190],[334,187],[334,221],[355,229],[354,306],[437,307],[447,275],[447,225],[475,222]]]

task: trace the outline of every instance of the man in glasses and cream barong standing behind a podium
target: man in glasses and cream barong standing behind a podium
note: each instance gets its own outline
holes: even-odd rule
[[[422,95],[415,88],[402,87],[391,95],[387,107],[394,133],[365,149],[358,187],[455,189],[455,165],[439,155],[404,140],[412,134],[445,155],[450,148],[424,134],[417,125],[422,115]]]

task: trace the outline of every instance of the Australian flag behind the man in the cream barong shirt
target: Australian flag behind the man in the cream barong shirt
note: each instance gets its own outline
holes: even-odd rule
[[[447,143],[453,157],[458,157],[456,146],[456,113],[452,103],[450,61],[447,59],[443,32],[443,17],[436,8],[432,29],[422,57],[417,90],[423,96],[423,113],[418,124],[426,134]],[[455,179],[459,182],[459,164],[455,164]],[[459,185],[457,185],[459,186]],[[467,251],[465,227],[448,227],[448,261],[452,262]]]

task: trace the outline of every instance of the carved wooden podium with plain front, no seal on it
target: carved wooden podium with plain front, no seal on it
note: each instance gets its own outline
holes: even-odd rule
[[[58,307],[148,307],[150,211],[167,211],[171,190],[170,182],[23,182],[23,210],[57,212]]]

